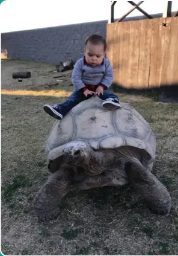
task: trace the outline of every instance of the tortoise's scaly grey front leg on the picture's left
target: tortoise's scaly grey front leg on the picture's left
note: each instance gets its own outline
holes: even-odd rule
[[[74,170],[69,165],[61,166],[60,170],[49,176],[48,181],[40,188],[33,202],[35,215],[41,221],[52,220],[58,216],[58,203],[70,190]]]

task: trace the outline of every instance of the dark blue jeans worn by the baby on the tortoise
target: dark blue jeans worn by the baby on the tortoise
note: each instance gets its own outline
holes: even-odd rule
[[[88,100],[88,98],[91,98],[92,96],[93,95],[88,95],[88,97],[86,97],[82,92],[75,91],[72,95],[70,95],[69,98],[67,98],[66,101],[58,104],[57,106],[61,115],[63,115],[64,117],[64,115],[66,115],[67,112],[69,112],[73,107],[75,107],[84,100]],[[115,100],[118,100],[118,97],[108,89],[103,90],[103,95],[100,94],[99,98],[101,98],[102,100],[106,100],[107,98],[114,98]]]

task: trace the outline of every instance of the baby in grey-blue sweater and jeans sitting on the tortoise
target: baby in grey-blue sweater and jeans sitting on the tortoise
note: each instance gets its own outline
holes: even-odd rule
[[[72,72],[72,83],[75,91],[61,104],[44,105],[44,111],[52,117],[61,120],[73,107],[97,95],[103,100],[102,106],[106,109],[118,109],[118,97],[109,91],[114,74],[111,63],[105,58],[106,40],[98,35],[91,34],[85,40],[84,57],[79,59]]]

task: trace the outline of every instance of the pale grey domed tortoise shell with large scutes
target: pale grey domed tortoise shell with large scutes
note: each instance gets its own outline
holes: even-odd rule
[[[46,143],[46,158],[63,155],[63,149],[72,141],[84,141],[94,150],[133,146],[155,156],[155,136],[146,120],[129,103],[121,109],[107,110],[102,100],[91,97],[83,101],[63,118],[56,121]]]

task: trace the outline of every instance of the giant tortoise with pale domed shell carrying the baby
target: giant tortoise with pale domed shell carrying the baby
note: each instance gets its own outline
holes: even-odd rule
[[[53,219],[58,203],[73,187],[81,190],[130,184],[154,213],[168,214],[171,197],[152,174],[156,139],[129,103],[108,110],[93,96],[55,121],[46,142],[48,181],[34,199],[42,221]]]

